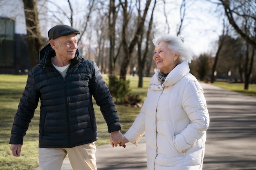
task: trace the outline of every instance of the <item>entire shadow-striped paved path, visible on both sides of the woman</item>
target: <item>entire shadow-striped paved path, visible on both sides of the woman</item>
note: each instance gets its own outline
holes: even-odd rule
[[[210,114],[203,170],[256,170],[256,97],[201,84]],[[97,147],[98,170],[147,170],[144,137],[126,148]],[[65,158],[61,170],[72,170]]]

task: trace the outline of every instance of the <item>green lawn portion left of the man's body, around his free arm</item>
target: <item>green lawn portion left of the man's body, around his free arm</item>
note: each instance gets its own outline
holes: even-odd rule
[[[33,170],[38,166],[38,122],[35,116],[22,147],[22,155],[13,157],[9,149],[11,126],[27,75],[0,75],[0,167],[1,170]]]

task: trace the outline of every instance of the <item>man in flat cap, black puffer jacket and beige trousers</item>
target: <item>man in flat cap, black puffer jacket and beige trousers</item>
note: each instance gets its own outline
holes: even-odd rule
[[[39,170],[60,170],[66,155],[74,170],[97,169],[92,96],[108,125],[112,147],[124,140],[110,91],[97,65],[77,50],[77,34],[78,30],[67,25],[49,30],[50,43],[29,72],[14,117],[10,148],[18,157],[40,99]]]

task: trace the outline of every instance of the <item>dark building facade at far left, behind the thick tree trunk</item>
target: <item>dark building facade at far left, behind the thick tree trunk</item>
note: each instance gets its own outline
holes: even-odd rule
[[[0,18],[0,74],[27,74],[31,69],[27,35],[14,30],[14,20]]]

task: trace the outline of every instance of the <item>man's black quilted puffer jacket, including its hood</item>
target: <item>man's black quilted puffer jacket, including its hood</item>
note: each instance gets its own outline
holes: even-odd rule
[[[63,79],[54,68],[50,44],[40,51],[31,69],[11,130],[10,144],[22,144],[40,99],[40,148],[72,148],[96,141],[92,96],[100,106],[108,132],[121,130],[112,96],[97,65],[79,51]]]

